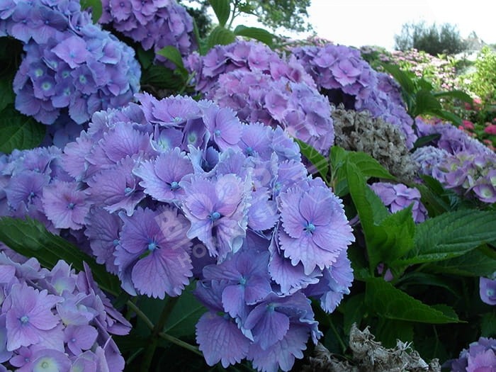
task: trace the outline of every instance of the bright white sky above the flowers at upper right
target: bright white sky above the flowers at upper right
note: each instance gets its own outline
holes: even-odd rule
[[[321,38],[337,44],[377,45],[393,50],[394,35],[405,23],[450,23],[462,38],[475,31],[485,43],[496,43],[492,0],[312,0],[310,23]],[[239,20],[246,26],[249,20]],[[294,36],[294,35],[293,35]],[[300,35],[301,37],[301,35]]]

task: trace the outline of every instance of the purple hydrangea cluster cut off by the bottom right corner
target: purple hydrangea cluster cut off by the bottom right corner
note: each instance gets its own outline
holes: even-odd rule
[[[451,372],[494,371],[496,366],[496,339],[480,337],[468,349],[461,351],[458,359],[445,363]]]

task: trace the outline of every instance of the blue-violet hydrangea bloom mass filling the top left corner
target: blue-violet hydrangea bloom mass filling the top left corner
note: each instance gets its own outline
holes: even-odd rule
[[[79,1],[0,1],[0,36],[24,44],[13,81],[16,108],[52,124],[62,110],[78,124],[133,100],[140,65],[132,48],[91,23]]]

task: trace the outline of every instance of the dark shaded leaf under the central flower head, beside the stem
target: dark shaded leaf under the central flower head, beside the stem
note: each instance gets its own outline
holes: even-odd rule
[[[206,311],[191,291],[192,286],[184,289],[165,323],[164,332],[174,337],[193,337],[196,323]]]

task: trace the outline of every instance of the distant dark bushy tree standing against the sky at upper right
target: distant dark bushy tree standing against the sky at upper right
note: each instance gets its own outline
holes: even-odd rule
[[[419,23],[405,23],[400,35],[395,35],[395,50],[410,50],[415,48],[429,53],[429,55],[454,55],[466,50],[466,43],[461,38],[456,26],[436,23],[427,26],[423,21]]]

